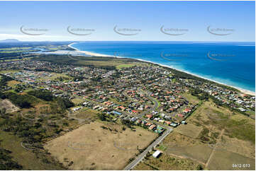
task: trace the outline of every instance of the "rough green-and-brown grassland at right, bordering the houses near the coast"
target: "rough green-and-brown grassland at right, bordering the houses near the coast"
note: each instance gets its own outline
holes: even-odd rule
[[[225,129],[226,136],[255,144],[255,120],[243,114],[231,112],[226,107],[218,107],[211,101],[204,102],[187,119],[187,122],[204,126],[215,133]]]

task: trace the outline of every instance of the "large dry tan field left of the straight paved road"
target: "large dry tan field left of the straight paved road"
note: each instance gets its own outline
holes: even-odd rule
[[[49,141],[45,148],[71,170],[121,170],[157,134],[110,122],[93,122]]]

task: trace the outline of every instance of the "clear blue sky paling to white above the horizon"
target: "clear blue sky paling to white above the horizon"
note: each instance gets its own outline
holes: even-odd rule
[[[255,42],[255,1],[0,1],[0,8],[0,40]]]

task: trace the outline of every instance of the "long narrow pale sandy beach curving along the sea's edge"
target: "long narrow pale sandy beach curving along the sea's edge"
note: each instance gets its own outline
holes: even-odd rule
[[[72,49],[74,49],[74,50],[76,50],[76,51],[79,52],[79,53],[84,53],[84,54],[87,54],[87,55],[91,55],[91,56],[93,56],[93,57],[115,57],[115,56],[113,56],[113,55],[99,54],[99,53],[88,52],[88,51],[81,51],[81,50],[79,50],[79,49],[77,49],[77,48],[75,48],[75,47],[72,47],[72,45],[74,45],[75,43],[77,43],[77,42],[72,42],[71,44],[69,44],[69,45],[67,45],[67,46],[70,47],[70,48],[72,48]],[[116,57],[116,58],[129,58],[129,57]],[[230,88],[235,88],[235,89],[239,90],[239,91],[240,91],[241,93],[243,93],[243,94],[255,96],[255,92],[252,92],[252,91],[250,91],[250,90],[245,90],[245,89],[243,89],[243,88],[238,88],[238,87],[235,87],[235,86],[230,86],[230,85],[228,85],[228,84],[226,84],[226,83],[221,83],[221,82],[218,82],[218,81],[214,81],[214,80],[212,80],[212,79],[209,79],[209,78],[204,78],[203,76],[199,76],[199,75],[196,75],[196,74],[194,74],[194,73],[189,73],[188,71],[182,71],[181,69],[172,68],[172,66],[167,66],[167,65],[164,65],[164,64],[158,64],[158,63],[156,63],[156,62],[147,61],[147,60],[144,60],[144,59],[135,59],[135,60],[148,62],[148,63],[150,63],[150,64],[155,64],[155,65],[162,66],[162,67],[167,67],[167,68],[169,68],[169,69],[174,69],[174,70],[177,70],[177,71],[180,71],[180,72],[183,72],[183,73],[187,73],[187,74],[189,74],[189,75],[191,75],[191,76],[196,76],[196,77],[199,77],[199,78],[203,78],[203,79],[205,79],[205,80],[207,80],[207,81],[212,81],[212,82],[214,82],[214,83],[221,84],[221,85],[223,85],[223,86],[228,86],[228,87],[230,87]]]

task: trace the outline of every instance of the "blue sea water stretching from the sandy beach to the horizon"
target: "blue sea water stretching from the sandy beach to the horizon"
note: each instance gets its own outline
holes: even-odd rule
[[[255,92],[255,42],[78,42],[72,47],[152,61]]]

